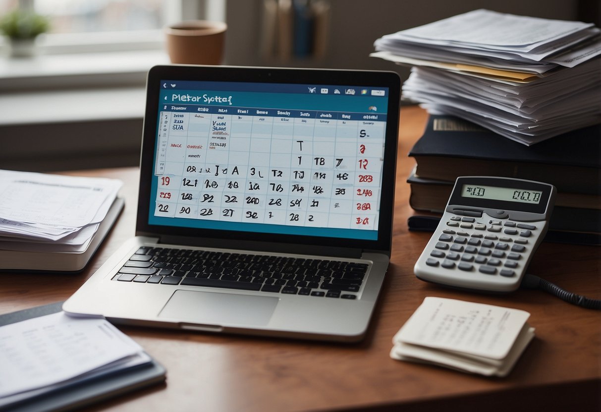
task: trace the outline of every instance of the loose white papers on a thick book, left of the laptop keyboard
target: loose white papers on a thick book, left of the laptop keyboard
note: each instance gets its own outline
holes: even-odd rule
[[[123,209],[122,184],[0,171],[0,270],[82,270]]]

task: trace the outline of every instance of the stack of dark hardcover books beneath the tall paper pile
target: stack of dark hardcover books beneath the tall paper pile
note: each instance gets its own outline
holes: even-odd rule
[[[430,115],[409,151],[407,179],[415,210],[442,213],[459,176],[543,181],[557,187],[548,240],[601,244],[601,125],[574,130],[531,147],[452,116]]]

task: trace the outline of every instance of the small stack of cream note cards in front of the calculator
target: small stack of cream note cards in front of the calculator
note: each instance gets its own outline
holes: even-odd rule
[[[508,307],[426,297],[392,339],[390,356],[504,377],[534,338],[529,316]]]

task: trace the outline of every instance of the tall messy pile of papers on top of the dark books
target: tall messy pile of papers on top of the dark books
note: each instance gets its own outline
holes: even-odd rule
[[[601,30],[475,10],[385,35],[371,56],[412,65],[403,97],[531,145],[601,122]]]

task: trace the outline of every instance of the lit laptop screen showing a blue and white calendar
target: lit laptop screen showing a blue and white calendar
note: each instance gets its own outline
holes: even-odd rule
[[[378,239],[387,86],[154,81],[148,225]]]

